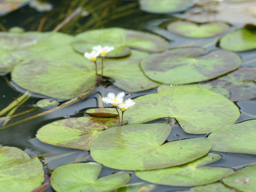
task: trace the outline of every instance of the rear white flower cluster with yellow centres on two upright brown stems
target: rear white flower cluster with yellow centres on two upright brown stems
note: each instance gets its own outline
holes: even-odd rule
[[[92,47],[92,52],[91,53],[84,53],[84,57],[86,57],[87,59],[90,59],[91,61],[93,61],[95,63],[95,74],[97,76],[98,79],[98,83],[101,83],[101,79],[103,77],[103,58],[105,58],[106,54],[110,51],[113,51],[115,48],[113,46],[105,46],[102,47],[101,45],[98,46],[94,46]],[[98,68],[97,68],[97,57],[99,57],[99,55],[101,56],[101,75],[100,78],[98,76]]]

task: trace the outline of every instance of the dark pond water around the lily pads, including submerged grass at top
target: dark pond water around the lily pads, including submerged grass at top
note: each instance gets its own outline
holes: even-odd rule
[[[55,26],[60,23],[61,20],[67,17],[67,13],[70,14],[76,8],[76,3],[73,3],[73,6],[70,6],[68,8],[70,1],[49,2],[53,4],[55,10],[53,13],[40,13],[34,9],[31,9],[29,6],[24,6],[17,11],[4,15],[0,18],[0,22],[6,29],[14,26],[19,26],[24,28],[26,31],[37,30],[37,27],[39,25],[38,23],[42,21],[42,18],[47,16],[48,18],[43,27],[43,31],[51,31],[55,28]],[[109,1],[106,1],[105,3],[104,2],[95,1],[94,9],[90,7],[90,10],[94,11],[92,12],[92,15],[86,16],[79,21],[71,21],[67,26],[61,29],[61,32],[75,35],[81,31],[88,29],[123,27],[134,30],[150,31],[151,33],[161,35],[169,41],[170,48],[179,46],[203,46],[205,48],[204,53],[220,49],[217,45],[217,41],[223,34],[210,38],[181,37],[166,30],[167,23],[175,19],[173,14],[153,14],[143,12],[139,9],[137,1],[113,0],[112,3],[114,8],[107,3]],[[84,4],[86,5],[86,3]],[[93,17],[96,17],[94,14],[99,15],[99,11],[102,10],[102,7],[108,6],[109,10],[106,10],[105,16],[103,15],[102,18],[99,18],[99,20],[95,18],[94,20],[91,19]],[[116,9],[117,11],[113,11],[114,9]],[[58,17],[56,17],[56,15]],[[242,26],[243,25],[241,24],[231,26],[229,33],[230,31],[234,31]],[[241,67],[256,67],[256,50],[239,52],[238,54],[243,59],[243,65]],[[47,123],[56,121],[57,119],[84,116],[84,112],[87,109],[101,107],[101,94],[106,95],[110,91],[115,93],[122,91],[118,87],[111,85],[111,80],[109,80],[105,84],[108,86],[100,85],[88,97],[86,97],[84,100],[76,102],[74,105],[54,111],[44,116],[31,119],[30,121],[13,125],[11,127],[8,127],[7,129],[0,130],[0,145],[20,148],[25,151],[25,153],[27,153],[30,157],[39,156],[41,158],[41,161],[44,163],[44,171],[46,173],[51,173],[52,170],[56,167],[68,163],[92,162],[93,159],[90,156],[89,151],[48,145],[39,141],[35,137],[35,135],[37,130]],[[125,93],[129,94],[130,98],[137,98],[141,95],[156,93],[156,90],[157,87],[141,92],[133,93],[125,91]],[[12,102],[15,98],[18,98],[19,95],[24,92],[26,92],[26,90],[22,89],[17,84],[12,82],[10,74],[6,74],[3,77],[0,77],[0,109],[6,107],[10,102]],[[47,97],[41,94],[32,93],[30,99],[18,108],[16,114],[20,113],[21,111],[26,111],[28,109],[34,108],[35,103],[41,98]],[[63,100],[59,100],[59,102],[63,102]],[[256,119],[256,99],[238,101],[235,102],[235,104],[241,111],[241,116],[236,123],[243,122],[248,119]],[[8,124],[17,122],[21,119],[25,119],[36,114],[40,114],[45,110],[47,109],[36,109],[28,114],[12,118]],[[161,118],[147,123],[167,123],[167,118]],[[207,134],[189,134],[184,132],[178,124],[174,124],[172,126],[171,134],[167,138],[167,141],[196,137],[207,137]],[[256,163],[256,155],[221,153],[218,151],[211,152],[220,154],[222,158],[219,161],[210,164],[209,166],[231,167],[235,170],[239,170],[242,169],[245,165]],[[106,166],[103,166],[100,177],[104,177],[105,175],[109,175],[117,171],[118,170],[110,169]],[[132,171],[130,171],[129,173],[131,174],[131,179],[129,183],[142,181]],[[164,185],[157,185],[153,191],[164,192],[188,189],[189,187],[170,187]],[[53,191],[53,189],[48,188],[45,191],[50,192]]]

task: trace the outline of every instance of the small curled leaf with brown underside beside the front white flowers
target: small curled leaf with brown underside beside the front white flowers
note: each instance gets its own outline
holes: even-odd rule
[[[115,108],[95,108],[88,109],[85,111],[86,114],[91,115],[92,117],[117,117],[117,111]]]

